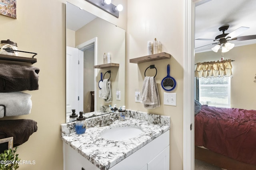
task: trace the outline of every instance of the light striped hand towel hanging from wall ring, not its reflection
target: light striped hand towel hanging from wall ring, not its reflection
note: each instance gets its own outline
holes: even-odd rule
[[[142,84],[141,103],[147,109],[154,109],[160,107],[159,93],[154,77],[146,76]]]

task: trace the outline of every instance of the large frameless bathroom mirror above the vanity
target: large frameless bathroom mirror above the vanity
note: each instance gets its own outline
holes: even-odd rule
[[[104,106],[125,105],[125,34],[124,29],[66,2],[66,122],[72,109],[78,115],[80,111],[100,115]],[[104,53],[111,54],[114,64],[104,64]],[[99,97],[99,83],[108,70],[110,103]]]

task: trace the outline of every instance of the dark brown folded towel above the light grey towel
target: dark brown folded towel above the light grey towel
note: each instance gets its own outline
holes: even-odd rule
[[[0,92],[38,90],[39,68],[0,63]]]

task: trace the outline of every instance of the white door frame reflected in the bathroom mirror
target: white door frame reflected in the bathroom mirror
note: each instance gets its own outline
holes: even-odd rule
[[[97,65],[97,56],[98,56],[98,37],[94,37],[84,43],[81,43],[79,45],[76,46],[76,48],[78,48],[79,50],[82,50],[88,46],[91,45],[92,43],[94,43],[94,65]],[[97,83],[97,70],[94,69],[94,109],[97,109],[97,96],[98,96],[98,92],[97,92],[97,87],[98,87],[98,83]],[[94,110],[95,111],[95,110]]]

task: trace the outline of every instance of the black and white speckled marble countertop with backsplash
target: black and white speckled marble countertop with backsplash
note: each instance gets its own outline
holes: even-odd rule
[[[169,116],[131,110],[126,110],[125,121],[115,120],[113,124],[105,127],[97,125],[97,119],[107,120],[110,117],[118,119],[118,113],[86,119],[87,129],[82,135],[76,134],[74,122],[61,125],[62,140],[101,170],[110,169],[170,129]],[[107,129],[123,126],[140,127],[143,132],[137,137],[123,141],[111,141],[100,137]]]

